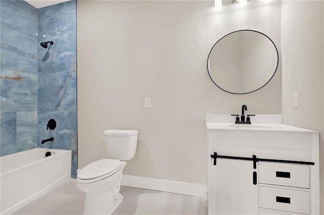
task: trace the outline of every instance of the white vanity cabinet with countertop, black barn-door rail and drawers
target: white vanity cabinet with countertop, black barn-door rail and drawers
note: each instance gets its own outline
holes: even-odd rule
[[[319,214],[317,131],[206,122],[209,214]]]

